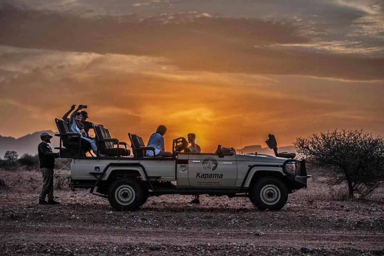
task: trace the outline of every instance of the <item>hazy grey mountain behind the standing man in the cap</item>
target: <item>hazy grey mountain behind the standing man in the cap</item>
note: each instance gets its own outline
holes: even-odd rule
[[[52,149],[59,146],[59,138],[54,136],[55,132],[51,130],[34,132],[33,134],[27,134],[18,139],[15,139],[14,137],[3,137],[0,135],[0,157],[3,158],[7,150],[15,150],[19,157],[26,153],[31,155],[37,154],[37,145],[41,142],[40,134],[42,132],[48,132],[48,134],[53,136],[51,139]]]

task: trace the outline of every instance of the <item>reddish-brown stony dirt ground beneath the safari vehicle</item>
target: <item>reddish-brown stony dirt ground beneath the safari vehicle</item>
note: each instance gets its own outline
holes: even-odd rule
[[[0,170],[0,255],[384,255],[384,194],[336,201],[323,184],[289,196],[280,211],[248,198],[151,197],[113,211],[87,190],[56,190],[38,205],[38,172]]]

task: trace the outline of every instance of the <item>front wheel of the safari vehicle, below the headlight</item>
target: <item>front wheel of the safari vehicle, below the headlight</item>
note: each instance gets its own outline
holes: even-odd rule
[[[288,188],[276,177],[264,177],[253,185],[250,200],[260,211],[280,210],[288,200]]]

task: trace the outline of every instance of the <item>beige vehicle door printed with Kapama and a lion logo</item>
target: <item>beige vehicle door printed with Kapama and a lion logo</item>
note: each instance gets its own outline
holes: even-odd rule
[[[235,187],[236,155],[189,153],[188,178],[191,187]]]

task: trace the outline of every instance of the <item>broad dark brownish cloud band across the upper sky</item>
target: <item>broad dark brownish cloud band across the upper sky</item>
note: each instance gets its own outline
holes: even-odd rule
[[[264,47],[310,41],[289,23],[196,12],[82,18],[5,4],[0,12],[2,45],[164,57],[188,71],[384,79],[384,58]]]

